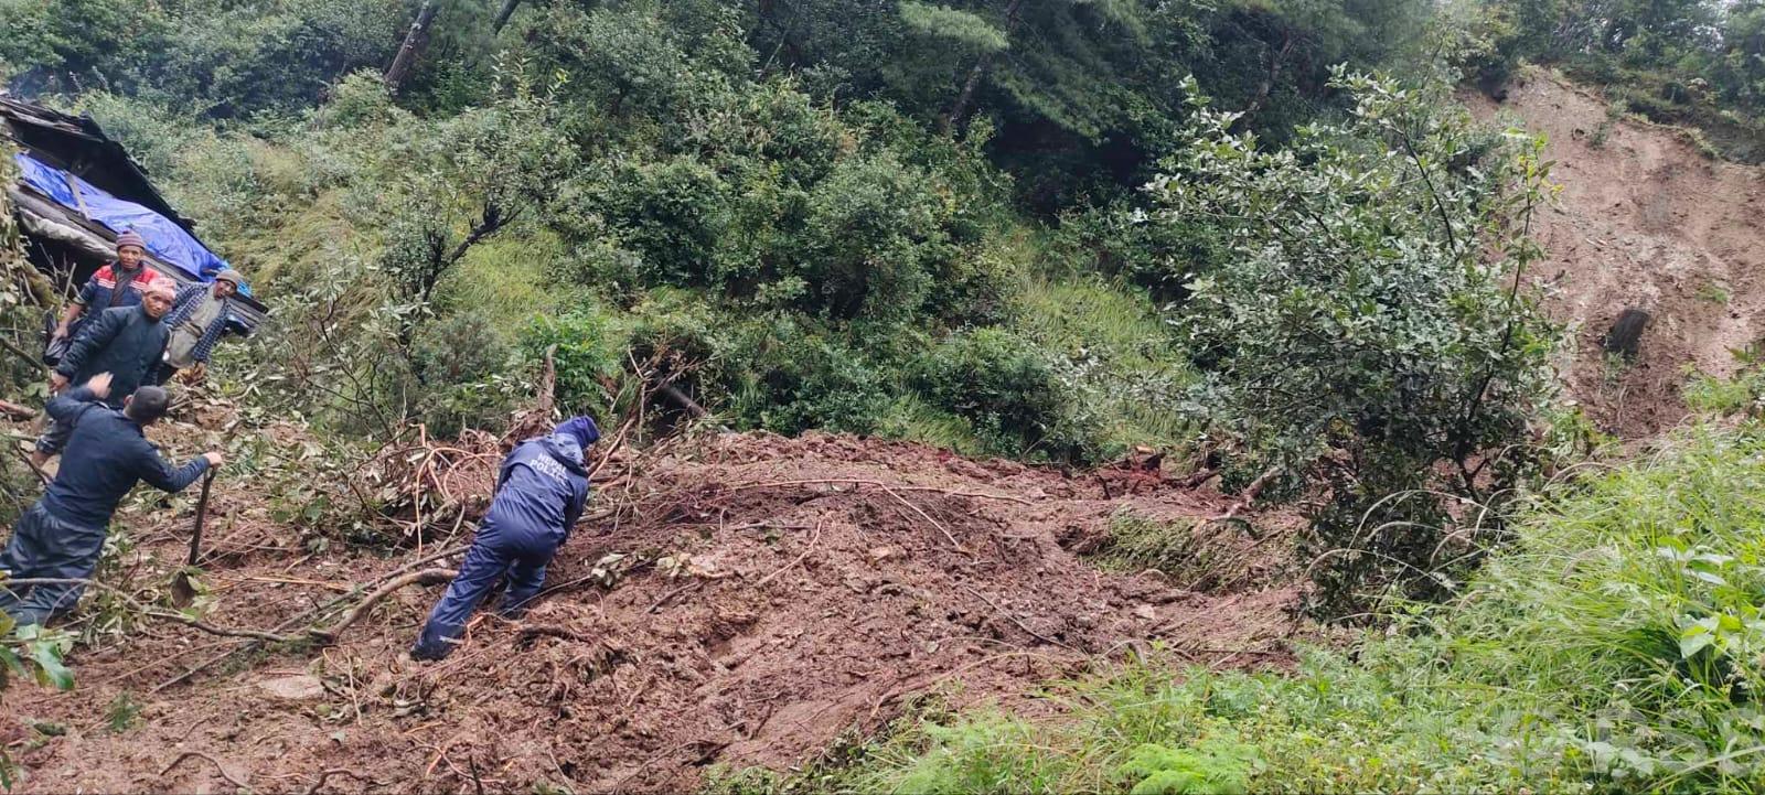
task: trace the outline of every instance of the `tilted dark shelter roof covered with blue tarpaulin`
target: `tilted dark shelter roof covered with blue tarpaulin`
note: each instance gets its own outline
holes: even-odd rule
[[[146,240],[146,266],[180,287],[212,282],[228,266],[196,236],[120,143],[88,116],[0,97],[0,129],[18,145],[19,180],[5,187],[25,233],[25,254],[65,291],[115,259],[116,234]],[[247,286],[228,328],[249,335],[268,314]]]

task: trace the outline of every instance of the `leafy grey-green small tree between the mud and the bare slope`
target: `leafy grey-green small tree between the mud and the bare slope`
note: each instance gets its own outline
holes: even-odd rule
[[[1186,405],[1253,490],[1326,487],[1301,554],[1317,612],[1345,617],[1391,587],[1442,598],[1498,538],[1553,330],[1523,289],[1541,141],[1479,132],[1438,90],[1334,85],[1350,116],[1285,150],[1197,93],[1193,146],[1151,190],[1237,254],[1172,321],[1205,374]]]

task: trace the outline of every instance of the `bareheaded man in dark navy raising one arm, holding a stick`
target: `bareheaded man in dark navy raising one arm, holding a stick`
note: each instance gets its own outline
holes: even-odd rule
[[[116,381],[104,372],[85,386],[49,400],[56,423],[72,428],[67,455],[42,499],[12,525],[12,539],[0,552],[0,571],[11,580],[86,580],[104,552],[104,536],[116,502],[136,481],[180,492],[210,467],[221,453],[203,453],[171,469],[141,428],[166,414],[169,397],[159,386],[143,386],[122,400],[122,409],[104,404]],[[0,610],[18,624],[44,624],[79,603],[83,585],[19,585],[0,580]]]

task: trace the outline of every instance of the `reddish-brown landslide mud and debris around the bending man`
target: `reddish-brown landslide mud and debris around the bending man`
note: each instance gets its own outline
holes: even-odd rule
[[[475,791],[473,779],[680,791],[713,762],[808,760],[916,695],[1013,702],[1140,643],[1211,665],[1287,659],[1292,591],[1184,591],[1075,552],[1123,508],[1214,516],[1228,502],[1213,492],[831,435],[674,450],[688,448],[609,488],[602,511],[630,509],[579,531],[551,571],[563,589],[526,622],[480,619],[445,663],[404,658],[439,587],[397,592],[334,647],[259,654],[157,693],[237,640],[154,624],[81,654],[76,691],[7,696],[21,790],[307,791],[334,770],[327,791]],[[305,561],[245,488],[219,492],[217,624],[268,628],[415,559]],[[166,513],[125,516],[136,538],[164,538],[143,546],[136,583],[164,582],[178,555],[189,518]],[[1280,534],[1258,538],[1232,527],[1211,546],[1239,552],[1239,583],[1269,580],[1285,555]],[[623,573],[602,585],[597,562]],[[125,691],[141,721],[113,733],[104,716]]]

